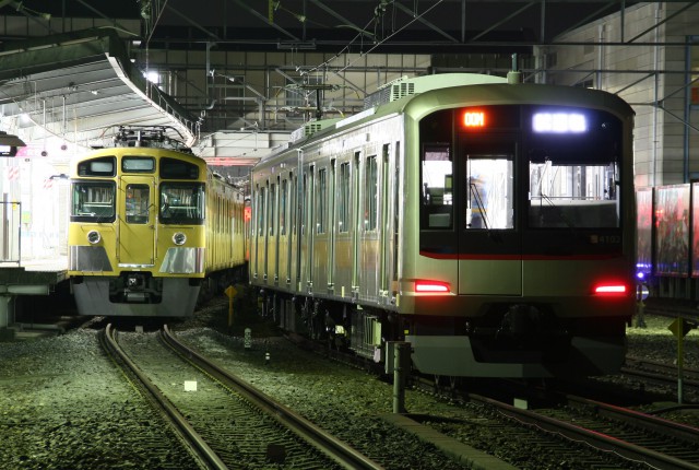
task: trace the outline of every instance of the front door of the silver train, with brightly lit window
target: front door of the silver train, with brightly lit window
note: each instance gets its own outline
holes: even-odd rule
[[[517,139],[509,136],[469,136],[461,141],[460,294],[522,293],[517,149]]]

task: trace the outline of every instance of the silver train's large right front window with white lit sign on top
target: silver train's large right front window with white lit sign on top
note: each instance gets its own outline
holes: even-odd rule
[[[618,228],[619,120],[602,111],[576,109],[534,111],[532,116],[530,228]],[[538,122],[537,116],[547,119]],[[546,124],[553,116],[562,121],[559,129]],[[580,120],[578,127],[573,127],[574,119]]]

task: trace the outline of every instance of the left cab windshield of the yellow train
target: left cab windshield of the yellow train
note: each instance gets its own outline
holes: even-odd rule
[[[71,185],[71,222],[110,223],[116,220],[115,181],[76,180]]]

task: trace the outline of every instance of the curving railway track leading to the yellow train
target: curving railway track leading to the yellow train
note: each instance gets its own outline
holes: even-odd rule
[[[109,326],[105,343],[147,389],[202,467],[380,468],[210,363],[177,341],[167,327],[154,336],[117,334]],[[182,377],[196,377],[191,381],[198,391],[185,391]]]

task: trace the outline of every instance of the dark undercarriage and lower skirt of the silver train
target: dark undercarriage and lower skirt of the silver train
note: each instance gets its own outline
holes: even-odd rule
[[[545,305],[501,304],[482,317],[403,315],[261,291],[262,314],[282,329],[383,362],[407,341],[414,368],[436,376],[603,375],[624,362],[625,319],[560,319]]]

